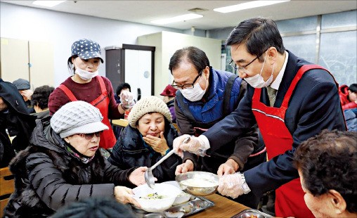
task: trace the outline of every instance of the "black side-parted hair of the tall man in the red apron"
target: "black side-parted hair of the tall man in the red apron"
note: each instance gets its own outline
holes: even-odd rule
[[[249,53],[259,57],[271,46],[281,54],[285,51],[276,23],[267,18],[251,18],[242,21],[232,30],[226,40],[226,46],[243,43],[247,46]]]

